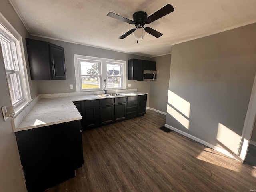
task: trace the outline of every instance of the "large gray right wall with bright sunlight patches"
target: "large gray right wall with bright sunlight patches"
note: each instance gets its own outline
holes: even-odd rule
[[[255,23],[174,45],[166,124],[237,154],[255,73]]]

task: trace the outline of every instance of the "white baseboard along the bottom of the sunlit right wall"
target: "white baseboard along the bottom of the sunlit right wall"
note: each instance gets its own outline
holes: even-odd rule
[[[188,137],[188,138],[190,138],[190,139],[192,139],[192,140],[194,140],[196,142],[199,142],[199,143],[201,143],[201,144],[203,144],[203,145],[205,145],[207,147],[210,147],[210,148],[212,148],[212,149],[214,149],[214,150],[216,150],[216,151],[218,151],[218,152],[220,152],[222,154],[225,154],[226,156],[229,156],[229,157],[231,157],[231,158],[233,158],[235,160],[238,160],[240,162],[244,162],[244,159],[242,159],[241,157],[237,156],[236,154],[232,154],[232,153],[228,152],[227,150],[224,150],[224,149],[222,149],[222,148],[220,148],[218,146],[210,144],[210,143],[208,143],[208,142],[206,142],[204,140],[201,140],[201,139],[199,139],[199,138],[197,138],[195,136],[192,136],[192,135],[190,135],[190,134],[188,134],[186,132],[178,130],[178,129],[176,129],[176,128],[168,125],[168,124],[165,124],[164,126],[169,128],[169,129],[171,129],[171,130],[174,130],[175,132],[178,132],[178,133],[180,133],[180,134],[182,134],[182,135],[184,135],[184,136],[186,136],[186,137]]]

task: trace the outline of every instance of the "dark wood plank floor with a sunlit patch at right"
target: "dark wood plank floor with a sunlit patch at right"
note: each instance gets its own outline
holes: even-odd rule
[[[82,133],[84,165],[76,177],[47,192],[249,192],[256,168],[177,132],[166,116],[138,118]]]

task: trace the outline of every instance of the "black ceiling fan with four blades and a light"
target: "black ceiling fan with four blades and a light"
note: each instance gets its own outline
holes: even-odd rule
[[[145,35],[145,32],[155,36],[156,38],[162,36],[163,34],[150,28],[150,27],[145,27],[145,24],[150,24],[151,22],[171,13],[174,11],[174,8],[172,5],[167,4],[166,6],[162,7],[160,10],[154,12],[152,15],[148,16],[148,14],[144,11],[138,11],[135,12],[132,16],[133,21],[130,19],[127,19],[123,16],[120,16],[118,14],[115,14],[113,12],[109,12],[107,14],[107,16],[112,17],[114,19],[118,19],[120,21],[129,23],[129,24],[134,24],[136,26],[135,29],[131,29],[130,31],[126,32],[125,34],[123,34],[122,36],[119,37],[119,39],[124,39],[126,38],[128,35],[132,34],[134,32],[135,36],[137,38],[142,38]],[[138,43],[138,40],[137,40]]]

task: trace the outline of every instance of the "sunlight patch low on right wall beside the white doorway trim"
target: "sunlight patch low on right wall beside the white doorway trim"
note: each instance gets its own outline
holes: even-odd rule
[[[230,150],[234,154],[238,154],[241,136],[236,134],[230,128],[223,124],[218,124],[217,140],[220,142],[219,146],[225,150]]]

